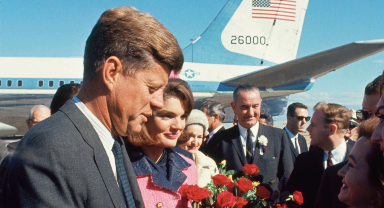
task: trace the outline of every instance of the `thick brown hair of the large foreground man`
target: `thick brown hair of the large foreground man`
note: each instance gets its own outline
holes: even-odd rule
[[[133,7],[104,12],[89,35],[84,50],[84,79],[91,80],[107,58],[120,59],[126,75],[149,69],[154,59],[176,73],[184,56],[176,38],[159,21]]]

